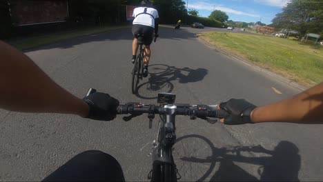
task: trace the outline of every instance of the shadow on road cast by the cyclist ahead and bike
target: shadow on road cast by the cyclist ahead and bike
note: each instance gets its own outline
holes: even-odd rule
[[[202,81],[208,74],[208,70],[204,68],[176,68],[164,64],[149,65],[149,71],[148,81],[138,85],[136,96],[140,99],[157,99],[158,92],[173,91],[174,81],[183,84],[193,83]]]

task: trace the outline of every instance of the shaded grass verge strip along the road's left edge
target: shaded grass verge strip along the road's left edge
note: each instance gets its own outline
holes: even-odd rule
[[[26,50],[34,48],[39,45],[63,41],[75,37],[81,37],[89,34],[96,34],[99,32],[106,32],[109,30],[117,30],[119,28],[126,28],[127,26],[98,26],[93,28],[82,28],[79,30],[70,30],[68,32],[59,32],[55,34],[38,35],[22,40],[9,40],[8,42],[19,50]]]

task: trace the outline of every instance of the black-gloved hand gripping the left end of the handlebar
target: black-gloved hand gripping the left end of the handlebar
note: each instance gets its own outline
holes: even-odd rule
[[[110,121],[115,119],[119,101],[109,94],[95,92],[83,99],[89,106],[89,119]]]

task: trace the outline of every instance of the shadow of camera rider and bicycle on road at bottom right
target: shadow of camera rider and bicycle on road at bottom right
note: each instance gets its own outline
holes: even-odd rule
[[[194,163],[201,163],[203,165],[209,163],[209,169],[205,171],[205,174],[199,174],[197,181],[205,181],[209,177],[211,177],[210,181],[259,181],[256,176],[246,172],[246,170],[239,167],[235,162],[260,165],[260,168],[257,170],[257,173],[260,175],[260,181],[299,181],[298,172],[300,170],[301,157],[298,154],[299,150],[297,146],[289,141],[281,141],[274,150],[266,150],[260,145],[236,147],[233,150],[228,148],[215,148],[213,143],[206,139],[206,137],[196,134],[179,137],[177,142],[184,142],[182,141],[183,139],[190,139],[192,141],[193,138],[204,140],[205,142],[201,141],[199,143],[204,143],[202,145],[207,143],[206,145],[209,145],[208,148],[212,150],[212,156],[202,157],[204,154],[189,154],[189,156],[186,156],[188,153],[191,153],[186,148],[183,150],[185,151],[184,156],[177,154],[179,156],[175,156],[175,159],[176,157],[179,158],[182,162],[187,163],[187,166],[192,166]],[[205,148],[202,145],[195,148]],[[180,146],[177,145],[175,149],[181,150]],[[248,152],[248,156],[242,155],[245,154],[244,152]],[[255,156],[255,153],[266,154],[266,156],[258,157]],[[215,163],[219,163],[219,169],[215,174],[212,174]],[[179,172],[181,172],[180,168],[178,169]]]

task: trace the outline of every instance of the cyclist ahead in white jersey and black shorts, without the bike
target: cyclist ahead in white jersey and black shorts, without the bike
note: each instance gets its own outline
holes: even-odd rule
[[[141,1],[140,7],[133,10],[133,59],[132,63],[135,63],[137,50],[138,50],[138,34],[144,35],[144,77],[148,76],[148,64],[150,61],[150,44],[153,42],[153,33],[155,30],[155,36],[158,37],[158,12],[153,8],[153,4],[148,0]]]

